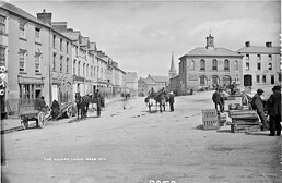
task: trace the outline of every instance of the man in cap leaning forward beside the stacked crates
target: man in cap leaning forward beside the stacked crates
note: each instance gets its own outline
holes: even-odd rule
[[[266,114],[265,114],[265,111],[263,111],[263,103],[262,103],[262,100],[261,100],[261,95],[265,91],[262,89],[257,90],[257,94],[251,99],[251,107],[252,107],[254,110],[257,110],[257,113],[258,113],[259,119],[261,121],[261,131],[267,131],[268,130],[267,118],[266,118]]]

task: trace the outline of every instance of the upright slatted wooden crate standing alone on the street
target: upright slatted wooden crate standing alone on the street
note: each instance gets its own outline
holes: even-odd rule
[[[215,109],[202,110],[203,130],[219,130],[219,115]]]

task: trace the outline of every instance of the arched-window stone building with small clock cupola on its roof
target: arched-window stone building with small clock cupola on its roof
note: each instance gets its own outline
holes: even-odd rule
[[[228,87],[242,83],[243,56],[226,48],[214,47],[214,37],[207,37],[207,46],[198,47],[179,58],[179,95],[191,88]]]

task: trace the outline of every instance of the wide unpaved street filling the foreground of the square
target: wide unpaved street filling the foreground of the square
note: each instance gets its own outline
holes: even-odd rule
[[[2,172],[11,183],[282,182],[279,137],[197,129],[211,95],[176,97],[175,111],[163,113],[131,98],[101,118],[4,134]]]

